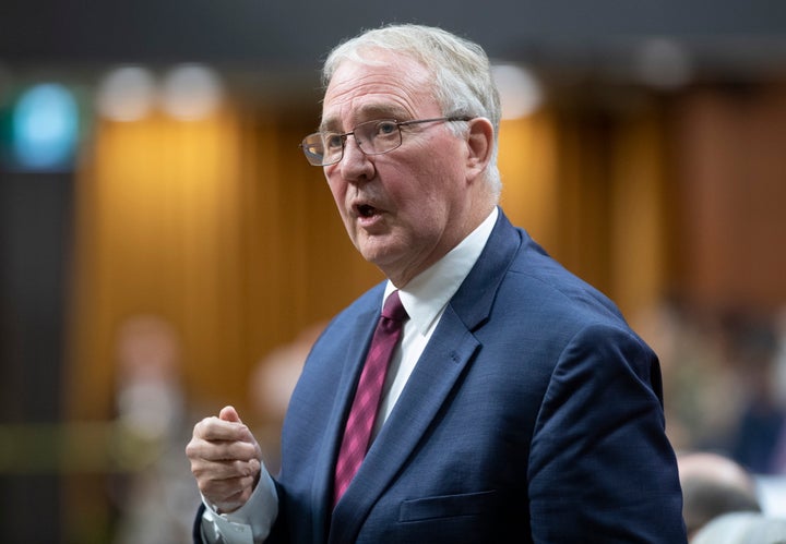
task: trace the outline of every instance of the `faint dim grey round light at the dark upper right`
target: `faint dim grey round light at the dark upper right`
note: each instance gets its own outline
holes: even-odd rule
[[[693,71],[684,48],[665,38],[645,41],[638,51],[635,63],[639,80],[659,88],[677,88],[687,84]]]

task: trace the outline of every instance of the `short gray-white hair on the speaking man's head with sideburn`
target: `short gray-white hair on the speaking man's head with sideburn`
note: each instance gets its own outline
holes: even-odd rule
[[[443,116],[485,117],[491,121],[495,141],[487,181],[499,196],[501,181],[497,167],[497,137],[501,106],[486,51],[473,41],[437,27],[414,24],[382,26],[340,44],[329,53],[322,68],[323,86],[330,84],[338,65],[346,60],[373,64],[373,60],[362,55],[373,49],[408,56],[422,64],[433,75],[434,93]]]

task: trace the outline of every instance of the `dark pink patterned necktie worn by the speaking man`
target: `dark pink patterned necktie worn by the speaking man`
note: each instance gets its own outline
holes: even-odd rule
[[[388,297],[382,315],[377,323],[371,347],[366,356],[366,364],[355,391],[355,400],[344,428],[344,438],[336,462],[333,504],[338,503],[366,457],[388,365],[407,317],[406,310],[398,299],[398,291],[393,291]]]

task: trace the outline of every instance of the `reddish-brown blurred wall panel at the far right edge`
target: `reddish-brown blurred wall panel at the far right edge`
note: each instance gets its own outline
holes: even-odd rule
[[[786,80],[699,87],[674,108],[679,292],[711,310],[786,304]]]

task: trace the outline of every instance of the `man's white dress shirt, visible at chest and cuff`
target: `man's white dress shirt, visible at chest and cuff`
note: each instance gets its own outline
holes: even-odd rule
[[[385,379],[380,412],[372,436],[377,436],[395,406],[415,364],[437,324],[442,317],[448,302],[453,298],[464,278],[477,262],[499,211],[495,206],[491,214],[468,237],[453,247],[433,266],[415,277],[398,290],[402,304],[409,315],[404,324],[402,341],[394,350],[388,377]],[[384,300],[396,288],[388,282]],[[202,536],[210,544],[259,544],[270,534],[270,529],[278,515],[278,496],[273,479],[262,464],[262,474],[257,488],[249,500],[231,513],[217,513],[206,500],[202,518]]]

